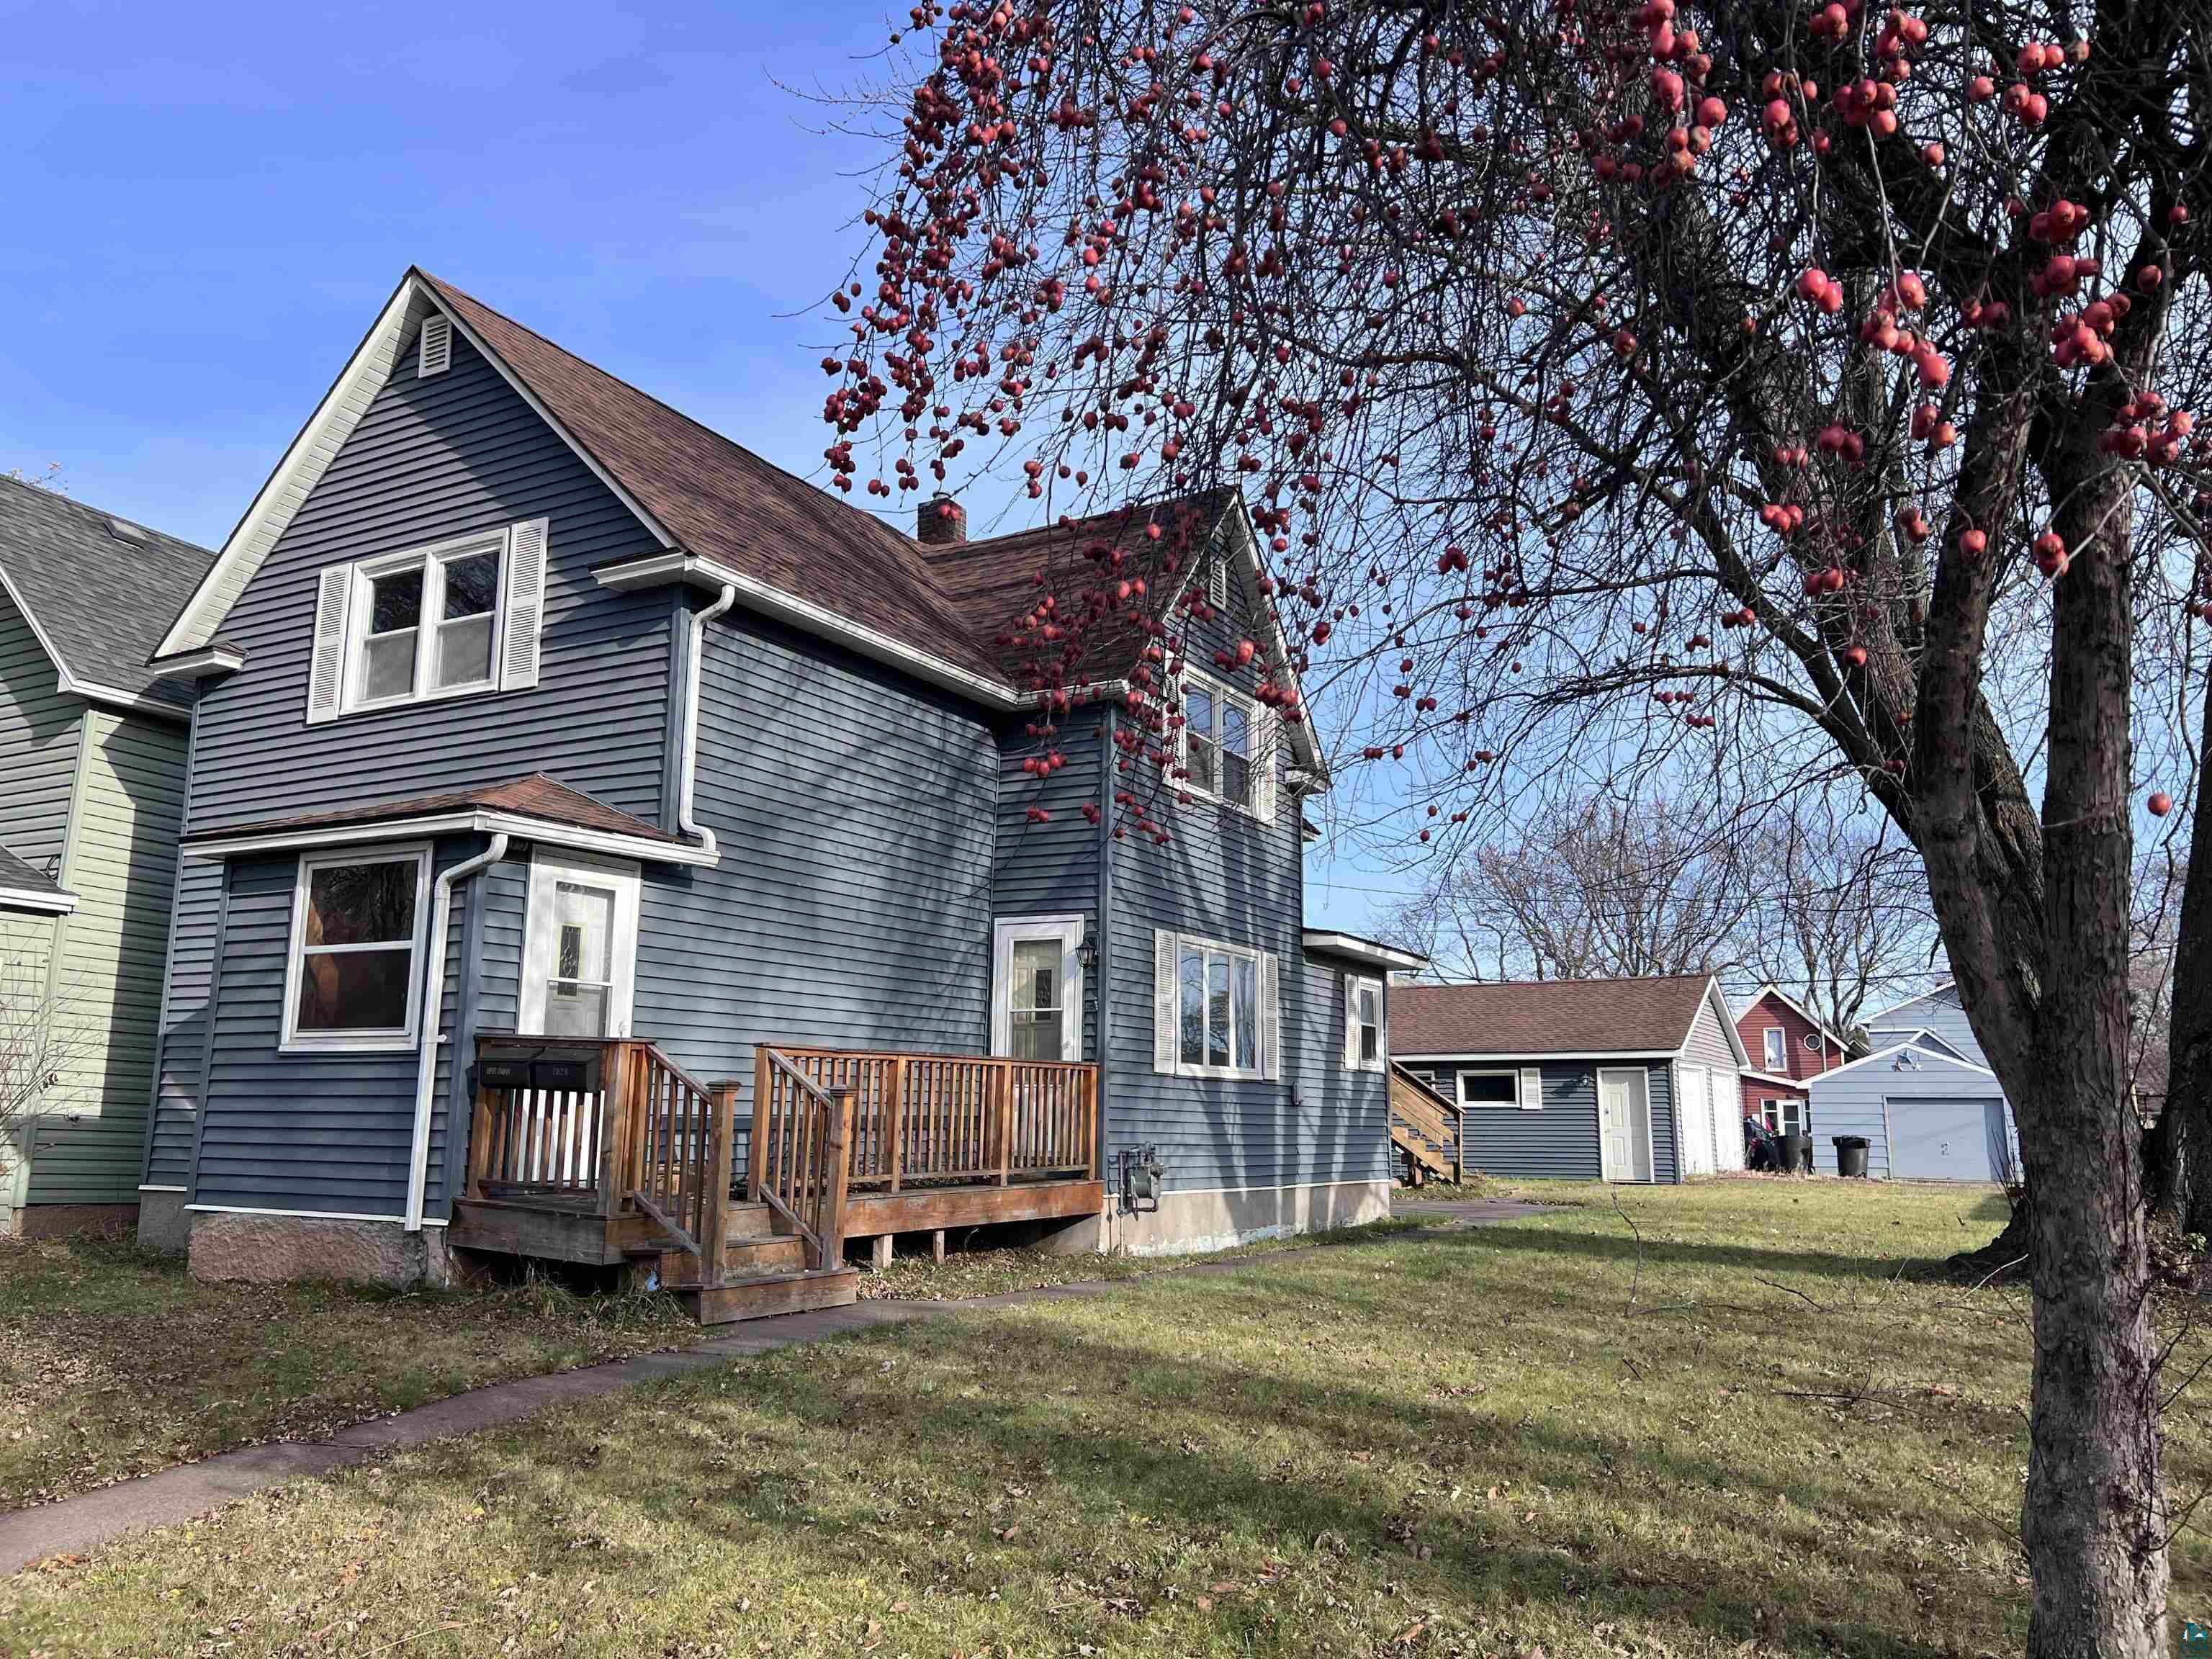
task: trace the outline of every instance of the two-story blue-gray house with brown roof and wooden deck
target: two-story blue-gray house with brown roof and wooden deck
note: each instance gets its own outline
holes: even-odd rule
[[[144,1237],[726,1318],[849,1296],[847,1239],[1383,1214],[1413,958],[1303,927],[1327,776],[1237,498],[916,531],[409,270],[155,659]]]

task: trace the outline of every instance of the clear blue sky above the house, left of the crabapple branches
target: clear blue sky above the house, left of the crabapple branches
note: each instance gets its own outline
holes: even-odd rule
[[[219,544],[420,263],[814,476],[880,150],[799,91],[863,82],[887,15],[0,4],[0,471]],[[1398,885],[1321,856],[1307,911]]]

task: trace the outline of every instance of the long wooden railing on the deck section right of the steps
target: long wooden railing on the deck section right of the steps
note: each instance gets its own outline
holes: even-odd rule
[[[814,1088],[852,1091],[852,1188],[1097,1179],[1097,1066],[761,1046],[754,1110],[776,1086],[772,1055]]]

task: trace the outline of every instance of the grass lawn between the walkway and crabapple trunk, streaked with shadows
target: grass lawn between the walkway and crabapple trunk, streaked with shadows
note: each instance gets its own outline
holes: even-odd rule
[[[0,1652],[2017,1652],[2000,1201],[1754,1183],[953,1314],[0,1584]],[[2188,1336],[2181,1365],[2205,1338]],[[2177,1489],[2212,1475],[2170,1413]],[[2199,1533],[2181,1613],[2212,1606]]]

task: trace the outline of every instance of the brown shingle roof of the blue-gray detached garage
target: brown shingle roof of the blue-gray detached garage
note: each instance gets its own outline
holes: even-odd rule
[[[1697,1018],[1710,973],[1635,980],[1394,984],[1396,1055],[1670,1055]]]

